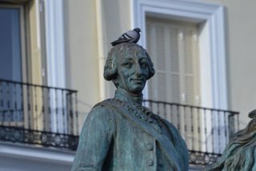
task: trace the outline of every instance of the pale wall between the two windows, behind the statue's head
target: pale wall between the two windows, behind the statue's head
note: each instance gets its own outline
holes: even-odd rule
[[[80,127],[96,103],[102,98],[113,97],[113,87],[110,93],[110,83],[104,81],[103,73],[99,73],[99,67],[103,68],[99,58],[103,58],[104,65],[110,42],[131,29],[130,1],[97,1],[63,0],[66,87],[78,90]],[[101,13],[96,12],[97,8]],[[101,23],[100,29],[98,20]],[[100,93],[101,82],[106,87],[103,96]]]

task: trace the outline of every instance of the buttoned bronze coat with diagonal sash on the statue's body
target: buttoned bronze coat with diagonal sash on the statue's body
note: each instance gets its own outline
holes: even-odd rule
[[[188,170],[186,143],[170,122],[162,133],[113,99],[94,106],[82,128],[72,171]]]

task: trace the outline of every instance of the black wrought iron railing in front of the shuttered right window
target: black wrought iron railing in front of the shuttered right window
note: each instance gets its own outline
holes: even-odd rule
[[[144,100],[144,105],[180,131],[189,149],[191,165],[217,161],[239,129],[238,112],[166,101]]]

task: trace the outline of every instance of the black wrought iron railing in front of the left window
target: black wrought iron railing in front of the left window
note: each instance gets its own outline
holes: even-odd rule
[[[75,150],[77,91],[0,79],[0,141]]]

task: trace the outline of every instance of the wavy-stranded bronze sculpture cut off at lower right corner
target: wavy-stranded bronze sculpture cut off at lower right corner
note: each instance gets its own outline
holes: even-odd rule
[[[234,135],[218,162],[205,171],[256,170],[256,109],[249,113],[249,117],[252,120],[246,128]]]

